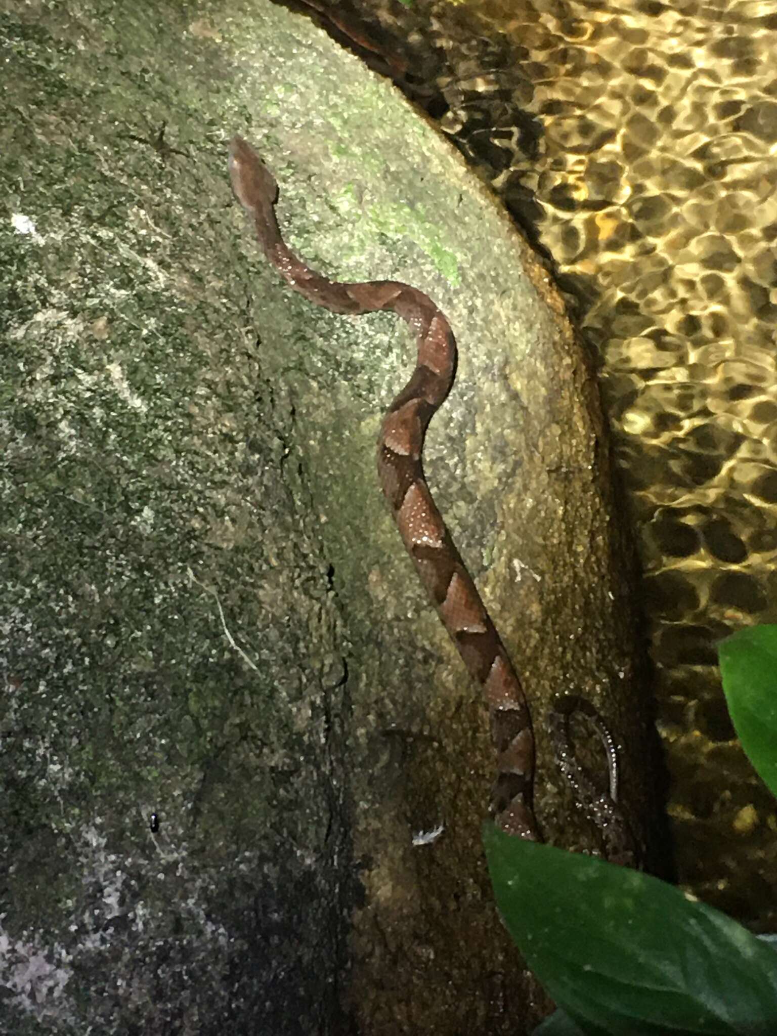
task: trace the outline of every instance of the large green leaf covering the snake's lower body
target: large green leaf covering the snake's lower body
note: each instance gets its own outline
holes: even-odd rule
[[[774,1036],[774,951],[648,874],[483,832],[496,902],[556,1004],[613,1036]]]

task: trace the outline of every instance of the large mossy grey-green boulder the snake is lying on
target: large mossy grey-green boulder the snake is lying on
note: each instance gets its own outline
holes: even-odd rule
[[[459,155],[289,11],[6,0],[0,44],[6,1030],[528,1031],[480,846],[485,709],[375,474],[413,344],[282,285],[226,139],[311,265],[451,319],[429,481],[525,678],[547,836],[596,850],[552,695],[612,723],[643,839],[654,777],[557,295]]]

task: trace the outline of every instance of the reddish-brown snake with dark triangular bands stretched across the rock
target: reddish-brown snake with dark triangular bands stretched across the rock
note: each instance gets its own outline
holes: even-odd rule
[[[456,369],[456,340],[451,325],[428,295],[407,284],[344,284],[306,266],[281,237],[275,214],[278,184],[241,137],[234,137],[230,143],[229,172],[235,197],[253,221],[265,256],[295,291],[335,313],[392,310],[418,336],[415,369],[388,407],[380,429],[380,485],[422,583],[464,664],[485,691],[497,758],[491,795],[494,819],[508,834],[541,841],[531,802],[535,738],[526,696],[424,477],[426,430],[451,390]],[[613,862],[630,863],[628,828],[614,803],[614,741],[587,701],[570,695],[558,700],[551,715],[551,732],[559,769],[572,784],[577,804],[599,827],[605,855]],[[598,793],[574,760],[569,747],[569,719],[576,711],[588,717],[605,744],[608,793]]]

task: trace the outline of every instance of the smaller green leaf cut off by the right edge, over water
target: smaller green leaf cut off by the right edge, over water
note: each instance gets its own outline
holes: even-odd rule
[[[751,626],[726,637],[718,644],[718,658],[742,747],[777,795],[777,626]]]

